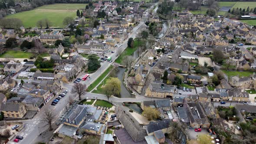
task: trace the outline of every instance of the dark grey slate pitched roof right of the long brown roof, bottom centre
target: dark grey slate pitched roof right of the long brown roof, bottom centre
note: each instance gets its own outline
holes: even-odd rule
[[[150,133],[158,131],[158,130],[169,128],[170,123],[171,123],[171,119],[165,119],[163,121],[157,121],[152,124],[145,125],[145,128],[146,128],[148,134],[150,134]]]

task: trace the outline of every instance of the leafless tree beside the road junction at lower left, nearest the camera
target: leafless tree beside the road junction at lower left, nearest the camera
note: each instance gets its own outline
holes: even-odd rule
[[[46,123],[46,125],[49,125],[50,131],[52,131],[53,130],[52,124],[56,120],[56,118],[57,116],[52,110],[46,109],[46,111],[43,113],[42,121]]]

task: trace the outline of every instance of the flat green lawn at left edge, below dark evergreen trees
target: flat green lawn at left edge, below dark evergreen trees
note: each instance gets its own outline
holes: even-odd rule
[[[4,54],[0,55],[0,58],[29,59],[30,56],[33,56],[33,54],[30,52],[9,50],[9,51],[5,52]]]

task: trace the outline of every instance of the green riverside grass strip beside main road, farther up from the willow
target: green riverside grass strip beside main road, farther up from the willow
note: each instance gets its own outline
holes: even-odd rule
[[[121,64],[122,59],[123,59],[124,56],[131,56],[133,54],[133,52],[135,52],[139,48],[139,46],[141,46],[142,44],[143,44],[142,41],[140,41],[140,43],[139,43],[138,40],[135,39],[134,40],[134,48],[132,49],[130,47],[127,47],[125,49],[125,51],[122,52],[121,55],[118,56],[117,59],[115,59],[115,62]]]

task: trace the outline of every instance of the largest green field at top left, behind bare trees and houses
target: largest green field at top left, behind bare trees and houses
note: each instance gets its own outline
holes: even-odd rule
[[[24,27],[35,27],[36,22],[47,18],[52,27],[62,27],[62,21],[65,17],[76,17],[76,10],[82,9],[86,4],[76,3],[58,3],[44,5],[34,10],[25,11],[6,16],[6,18],[18,18],[22,20]]]

